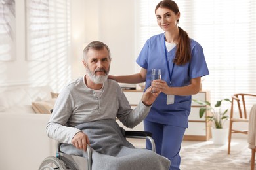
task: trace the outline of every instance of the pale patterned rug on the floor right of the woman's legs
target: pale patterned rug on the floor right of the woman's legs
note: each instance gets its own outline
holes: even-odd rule
[[[210,141],[183,141],[181,147],[181,170],[250,170],[251,149],[247,138],[232,138],[228,155],[228,142],[214,144]],[[193,167],[193,168],[191,168]],[[256,168],[255,168],[256,170]]]

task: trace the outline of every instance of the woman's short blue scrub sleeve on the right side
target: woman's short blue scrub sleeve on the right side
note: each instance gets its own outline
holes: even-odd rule
[[[209,75],[209,70],[203,54],[203,48],[200,44],[196,44],[196,46],[192,48],[189,73],[191,78]]]

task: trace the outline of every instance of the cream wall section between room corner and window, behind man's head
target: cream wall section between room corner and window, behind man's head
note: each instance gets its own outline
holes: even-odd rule
[[[85,1],[85,41],[102,41],[110,47],[110,74],[134,73],[134,3],[135,0]],[[83,73],[83,72],[82,72]]]

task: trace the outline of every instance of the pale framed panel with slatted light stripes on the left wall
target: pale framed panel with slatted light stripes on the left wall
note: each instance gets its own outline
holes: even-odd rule
[[[66,58],[70,44],[69,0],[26,0],[28,60]]]

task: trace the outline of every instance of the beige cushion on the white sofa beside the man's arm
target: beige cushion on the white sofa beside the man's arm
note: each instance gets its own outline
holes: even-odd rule
[[[51,114],[50,110],[53,109],[55,101],[56,98],[45,101],[33,101],[32,107],[36,113]]]

